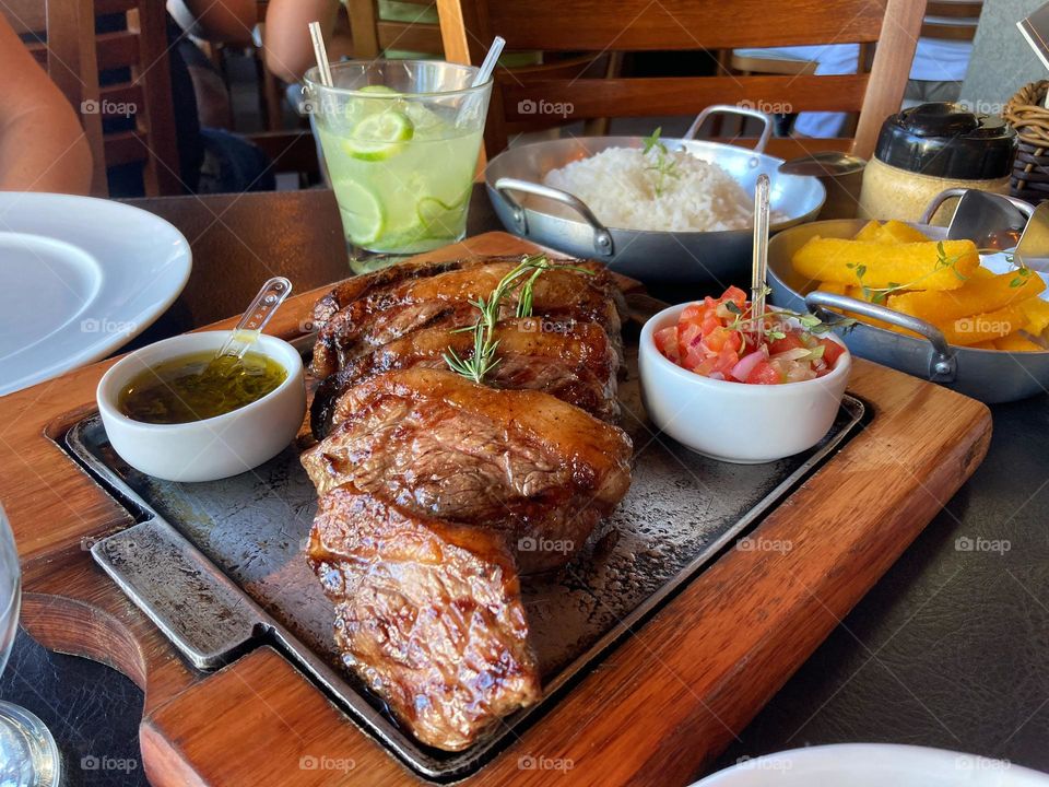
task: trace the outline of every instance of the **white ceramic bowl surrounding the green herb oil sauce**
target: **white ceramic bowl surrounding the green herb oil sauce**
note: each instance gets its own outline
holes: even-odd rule
[[[117,407],[120,390],[140,372],[179,355],[219,350],[228,331],[187,333],[137,350],[98,383],[102,423],[120,457],[135,470],[168,481],[214,481],[258,467],[283,450],[306,414],[303,359],[285,341],[260,336],[254,348],[287,369],[287,378],[261,399],[203,421],[149,424]]]

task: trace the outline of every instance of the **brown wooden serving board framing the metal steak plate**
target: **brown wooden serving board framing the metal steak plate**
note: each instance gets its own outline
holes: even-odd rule
[[[518,254],[490,233],[427,255]],[[271,331],[303,330],[320,292]],[[231,321],[216,327],[228,327]],[[263,647],[195,671],[92,561],[132,524],[56,441],[94,410],[103,362],[0,399],[0,501],[23,560],[22,622],[46,647],[108,663],[145,692],[144,767],[167,785],[425,784]],[[849,391],[873,420],[465,782],[684,785],[739,733],[983,459],[981,403],[857,360]]]

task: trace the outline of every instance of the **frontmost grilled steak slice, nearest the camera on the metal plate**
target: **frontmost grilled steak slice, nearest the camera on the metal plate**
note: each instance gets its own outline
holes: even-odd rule
[[[457,751],[541,695],[514,559],[493,530],[352,486],[320,500],[308,559],[345,663],[423,743]]]

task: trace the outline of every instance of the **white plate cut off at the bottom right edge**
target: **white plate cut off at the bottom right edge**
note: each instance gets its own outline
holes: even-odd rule
[[[1046,787],[1004,760],[889,743],[811,747],[746,760],[693,787]]]

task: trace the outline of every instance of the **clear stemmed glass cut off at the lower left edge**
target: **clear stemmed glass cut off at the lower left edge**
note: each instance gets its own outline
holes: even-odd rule
[[[22,602],[22,572],[14,536],[0,507],[0,673],[8,665]],[[0,785],[58,787],[61,761],[55,739],[28,710],[0,702]]]

